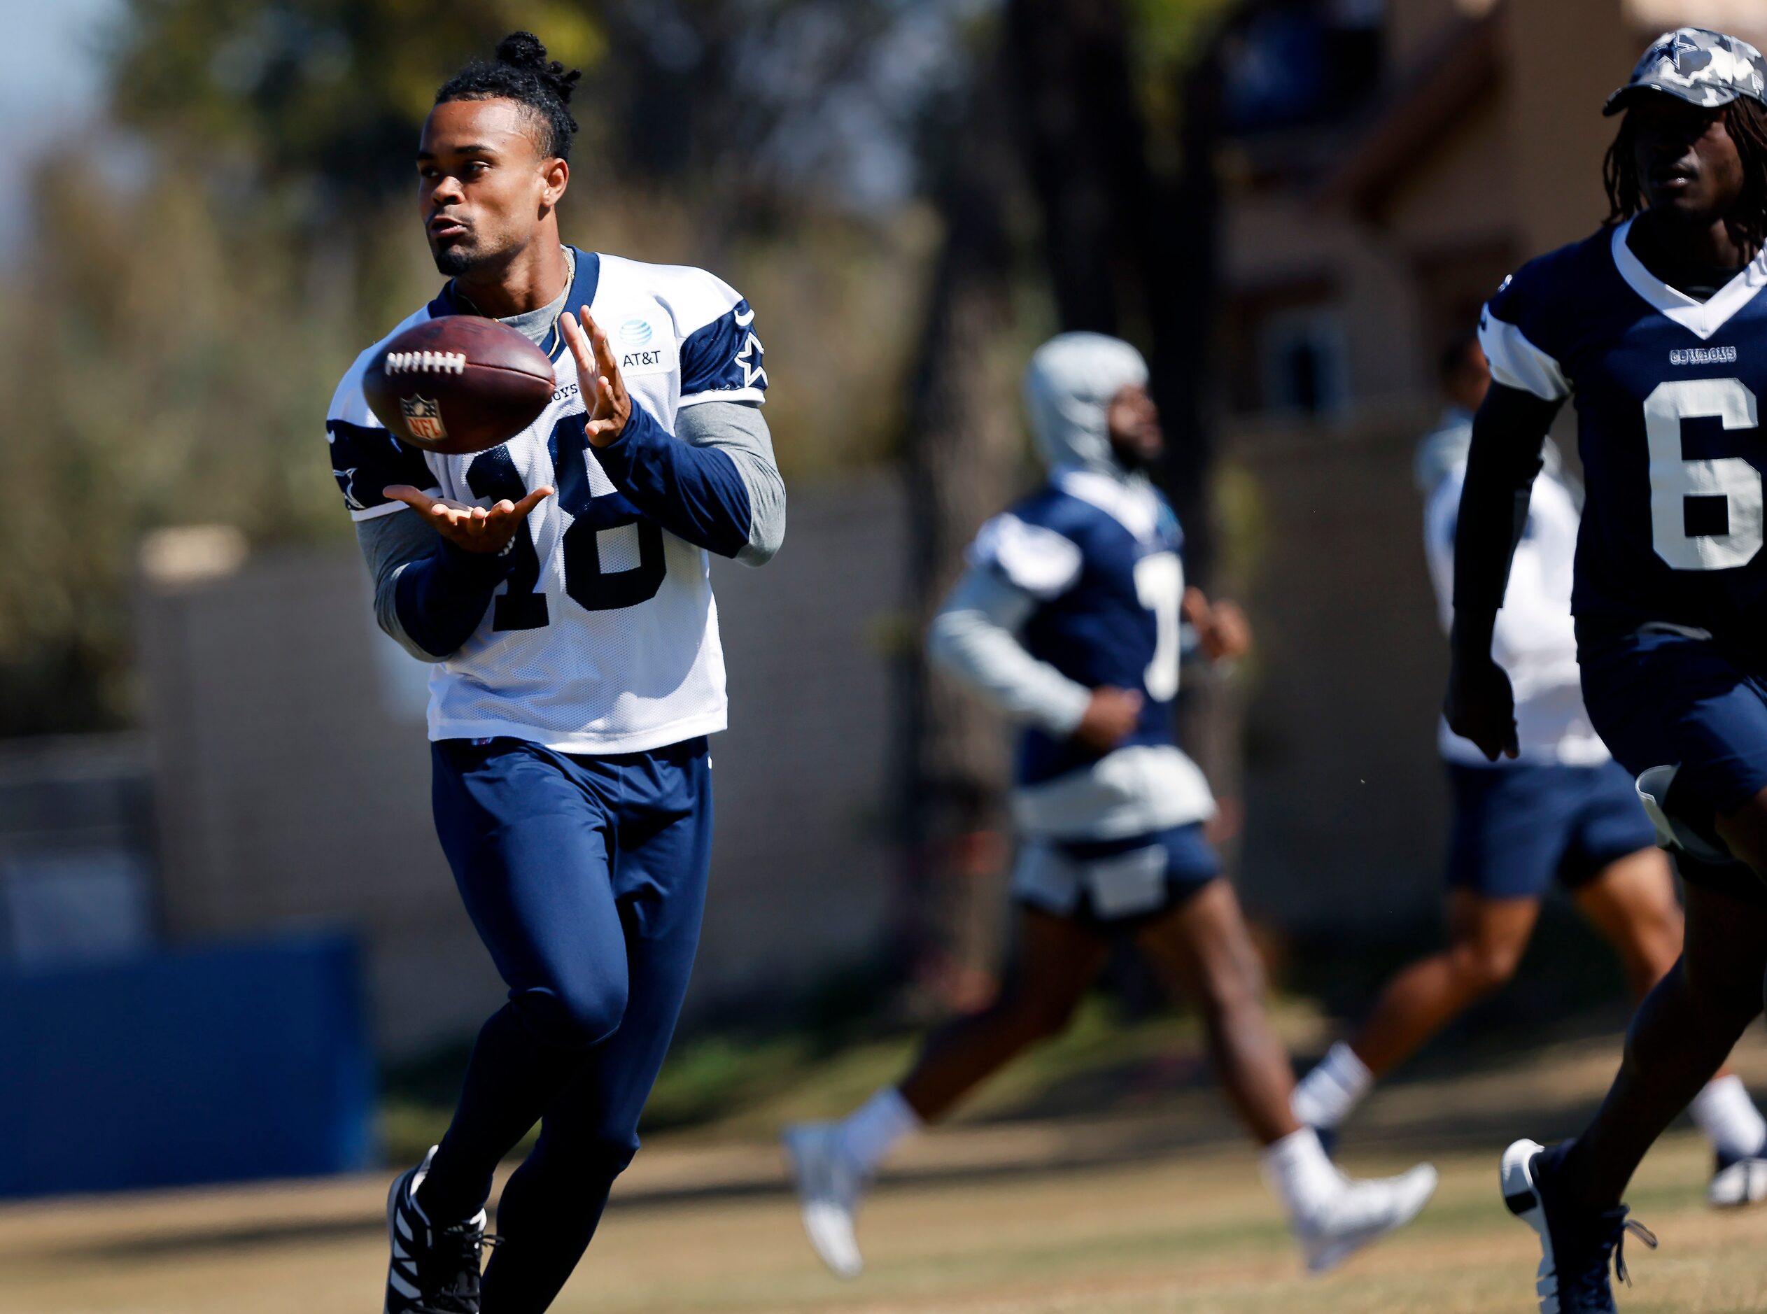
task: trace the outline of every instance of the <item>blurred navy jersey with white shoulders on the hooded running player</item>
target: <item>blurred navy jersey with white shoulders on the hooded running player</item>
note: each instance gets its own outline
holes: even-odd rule
[[[1173,742],[1182,546],[1177,516],[1152,486],[1085,470],[1057,472],[975,539],[975,562],[1039,602],[1020,632],[1032,657],[1087,689],[1141,692],[1141,721],[1119,747]],[[1069,738],[1030,728],[1020,782],[1037,784],[1096,759]]]

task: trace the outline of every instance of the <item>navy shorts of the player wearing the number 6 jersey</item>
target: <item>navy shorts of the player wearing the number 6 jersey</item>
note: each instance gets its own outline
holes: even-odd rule
[[[1767,788],[1767,680],[1710,639],[1626,634],[1585,645],[1583,703],[1608,749],[1634,775],[1679,766],[1668,807],[1719,848],[1714,818]],[[1767,906],[1762,881],[1740,862],[1675,855],[1689,885]]]

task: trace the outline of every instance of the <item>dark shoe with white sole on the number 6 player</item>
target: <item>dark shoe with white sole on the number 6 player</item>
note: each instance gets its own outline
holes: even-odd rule
[[[1608,1270],[1626,1275],[1626,1233],[1656,1249],[1656,1236],[1613,1210],[1578,1208],[1551,1189],[1551,1176],[1564,1160],[1569,1141],[1551,1150],[1536,1141],[1516,1141],[1504,1150],[1504,1204],[1541,1238],[1541,1266],[1534,1291],[1541,1314],[1617,1314]]]

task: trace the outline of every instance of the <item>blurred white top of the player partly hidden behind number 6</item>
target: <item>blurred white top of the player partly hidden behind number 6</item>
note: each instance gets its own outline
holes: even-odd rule
[[[1454,525],[1465,464],[1454,466],[1424,507],[1424,548],[1435,581],[1442,627],[1454,622]],[[1527,763],[1592,766],[1608,761],[1608,747],[1583,708],[1571,620],[1571,565],[1576,558],[1576,498],[1555,475],[1534,480],[1528,525],[1509,569],[1509,590],[1497,613],[1491,657],[1509,673],[1516,694],[1516,744]],[[1449,761],[1490,765],[1479,747],[1440,728]],[[1511,761],[1498,758],[1498,765]]]

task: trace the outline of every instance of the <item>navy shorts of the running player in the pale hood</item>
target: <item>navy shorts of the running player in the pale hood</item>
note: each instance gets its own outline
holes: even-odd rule
[[[1221,874],[1202,823],[1101,841],[1032,839],[1012,895],[1090,925],[1133,925],[1186,902]]]

